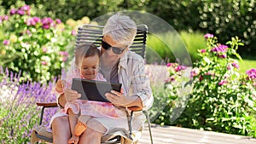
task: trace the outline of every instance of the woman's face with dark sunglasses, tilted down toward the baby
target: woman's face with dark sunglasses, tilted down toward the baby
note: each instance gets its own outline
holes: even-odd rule
[[[111,48],[104,49],[102,47],[102,59],[105,60],[111,60],[111,61],[116,61],[119,60],[120,57],[122,57],[125,54],[125,51],[127,51],[127,45],[124,43],[117,43],[114,42],[112,37],[106,35],[103,37],[103,42],[107,43],[108,46],[111,46]],[[114,48],[112,48],[114,47]],[[116,54],[114,51],[122,51],[120,54]]]

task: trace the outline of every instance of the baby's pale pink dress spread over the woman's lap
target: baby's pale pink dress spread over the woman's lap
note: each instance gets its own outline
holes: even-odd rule
[[[73,78],[81,78],[79,69],[75,67],[71,67],[69,72],[67,72],[67,76],[64,78],[67,81],[66,87],[68,89],[71,89]],[[106,81],[101,73],[97,73],[94,80]],[[95,118],[126,118],[126,114],[119,108],[114,107],[110,102],[76,100],[67,102],[63,109],[60,109],[60,111],[53,115],[53,117],[50,119],[49,126],[47,127],[49,132],[52,132],[51,124],[53,120],[57,117],[68,116],[67,109],[69,108],[71,108],[75,114],[79,114],[79,112],[81,112],[80,115],[87,115]]]

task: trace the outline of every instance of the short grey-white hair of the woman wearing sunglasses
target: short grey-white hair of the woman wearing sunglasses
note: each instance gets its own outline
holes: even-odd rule
[[[102,35],[109,35],[114,42],[131,46],[137,34],[137,26],[129,16],[113,14],[104,26]]]

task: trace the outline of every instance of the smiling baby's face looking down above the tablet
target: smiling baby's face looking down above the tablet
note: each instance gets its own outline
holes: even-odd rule
[[[99,61],[100,58],[98,55],[84,57],[79,67],[81,77],[86,79],[96,78]]]

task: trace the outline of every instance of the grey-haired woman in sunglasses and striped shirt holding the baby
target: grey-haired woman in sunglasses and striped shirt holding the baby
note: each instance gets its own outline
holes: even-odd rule
[[[122,91],[106,93],[108,101],[118,107],[123,114],[130,112],[127,107],[148,109],[152,107],[153,95],[149,79],[145,75],[144,60],[129,50],[137,33],[137,26],[129,16],[113,14],[103,29],[100,72],[107,81],[122,84]],[[61,107],[67,101],[80,97],[77,91],[66,89],[58,97]],[[132,130],[140,130],[145,122],[143,112],[136,112]],[[112,130],[129,130],[127,118],[90,118],[88,128],[80,136],[79,143],[100,144],[102,136]],[[71,137],[68,117],[54,118],[52,124],[54,143],[67,143]]]

